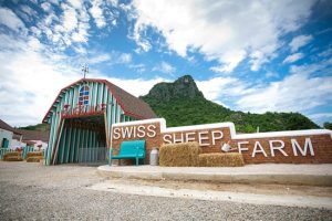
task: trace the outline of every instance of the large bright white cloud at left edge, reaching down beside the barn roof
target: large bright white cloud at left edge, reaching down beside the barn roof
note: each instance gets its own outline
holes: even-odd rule
[[[60,88],[80,78],[34,48],[0,52],[0,116],[13,126],[41,123]]]

